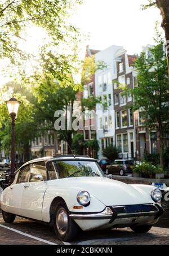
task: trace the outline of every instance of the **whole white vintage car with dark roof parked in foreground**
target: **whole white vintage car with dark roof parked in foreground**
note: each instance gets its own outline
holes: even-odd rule
[[[127,185],[108,179],[97,160],[58,155],[31,160],[16,171],[3,190],[3,219],[41,220],[54,227],[60,240],[72,241],[79,229],[130,227],[147,232],[163,210],[162,193],[150,185]]]

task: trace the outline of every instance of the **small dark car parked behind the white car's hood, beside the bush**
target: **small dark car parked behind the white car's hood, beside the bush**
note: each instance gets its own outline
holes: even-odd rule
[[[127,175],[132,174],[132,169],[134,168],[134,161],[127,159],[117,159],[106,167],[105,173],[115,174],[115,175]]]

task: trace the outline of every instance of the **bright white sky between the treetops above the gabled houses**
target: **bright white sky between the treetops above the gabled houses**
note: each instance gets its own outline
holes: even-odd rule
[[[91,49],[120,45],[128,54],[140,53],[143,46],[153,44],[155,22],[161,24],[159,9],[143,11],[144,3],[148,0],[84,0],[72,22],[90,33],[86,45]]]

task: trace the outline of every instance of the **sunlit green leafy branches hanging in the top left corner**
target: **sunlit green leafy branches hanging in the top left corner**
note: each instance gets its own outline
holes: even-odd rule
[[[78,31],[66,24],[66,18],[81,3],[82,0],[0,1],[0,58],[8,57],[16,63],[26,57],[18,43],[31,25],[45,29],[54,45],[69,41],[68,35],[75,41]]]

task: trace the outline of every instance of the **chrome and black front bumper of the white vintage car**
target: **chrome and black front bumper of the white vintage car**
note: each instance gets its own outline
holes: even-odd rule
[[[70,218],[74,220],[110,220],[109,223],[113,223],[115,219],[124,218],[135,218],[144,216],[154,216],[153,219],[158,219],[159,216],[163,214],[163,209],[157,203],[155,204],[145,204],[141,206],[149,206],[150,211],[135,211],[135,212],[120,212],[119,208],[125,209],[126,206],[107,206],[102,212],[95,213],[70,213]],[[152,210],[151,210],[152,209]]]

